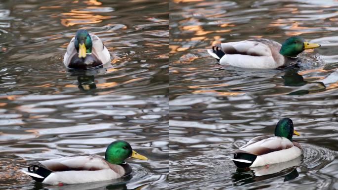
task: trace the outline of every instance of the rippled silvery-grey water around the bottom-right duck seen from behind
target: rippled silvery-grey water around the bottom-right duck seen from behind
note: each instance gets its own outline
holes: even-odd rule
[[[170,189],[338,189],[338,100],[303,96],[181,95],[170,106]],[[304,157],[236,169],[232,150],[294,121]]]

